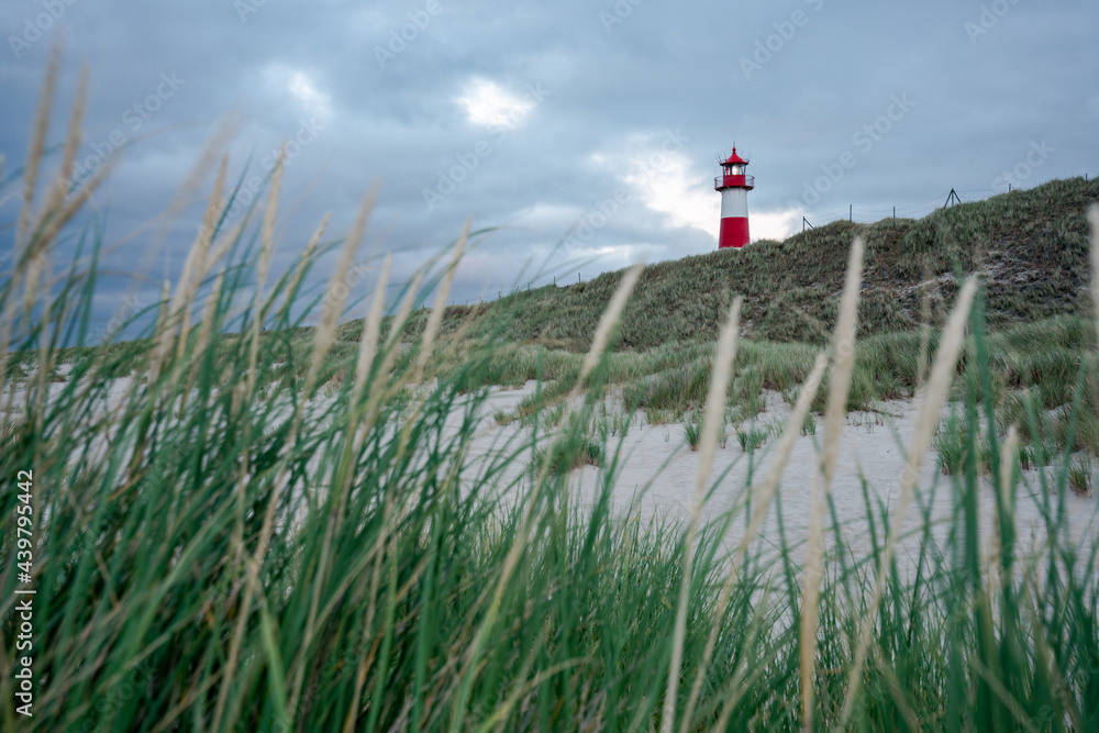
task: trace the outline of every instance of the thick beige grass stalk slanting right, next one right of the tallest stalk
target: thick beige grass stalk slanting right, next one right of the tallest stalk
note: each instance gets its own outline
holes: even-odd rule
[[[954,368],[965,343],[965,326],[968,322],[969,308],[973,306],[976,292],[976,280],[973,278],[967,279],[962,287],[962,292],[958,293],[957,304],[946,321],[946,327],[943,330],[943,338],[939,346],[939,353],[935,356],[935,364],[932,366],[931,377],[928,379],[928,390],[924,395],[923,404],[920,407],[920,412],[915,420],[915,429],[909,444],[908,460],[900,478],[900,498],[897,502],[897,509],[890,518],[889,536],[878,564],[874,595],[870,597],[866,615],[863,618],[863,624],[859,630],[857,646],[855,648],[855,662],[852,665],[847,681],[847,695],[843,701],[843,709],[840,712],[839,729],[846,728],[851,720],[851,713],[854,711],[855,700],[862,687],[863,667],[866,664],[870,635],[874,631],[878,604],[881,602],[881,596],[885,591],[889,567],[892,564],[893,552],[897,548],[897,540],[900,536],[909,504],[912,502],[915,480],[920,475],[923,456],[928,452],[928,448],[931,447],[931,441],[939,424],[939,414],[942,411],[951,384],[954,380]]]

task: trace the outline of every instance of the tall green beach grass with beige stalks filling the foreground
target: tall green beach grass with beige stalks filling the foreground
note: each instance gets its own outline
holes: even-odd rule
[[[32,151],[41,153],[44,123],[36,135]],[[38,153],[24,173],[31,192]],[[70,167],[65,153],[58,179]],[[1032,438],[1041,443],[1037,421],[1048,418],[1034,408],[1064,404],[1072,392],[1065,438],[1076,440],[1095,409],[1084,401],[1094,365],[1076,341],[1088,331],[1081,320],[1043,331],[1045,346],[1064,340],[1052,354],[1032,351],[1019,331],[988,336],[985,309],[995,297],[986,290],[975,299],[969,282],[956,303],[947,297],[953,315],[925,349],[919,332],[861,337],[850,349],[856,312],[877,312],[872,297],[859,302],[855,277],[822,382],[826,360],[814,347],[739,342],[735,309],[718,347],[652,343],[644,353],[608,353],[615,331],[620,343],[644,333],[631,321],[636,301],[624,315],[618,310],[653,281],[643,274],[635,285],[635,270],[586,284],[606,287],[607,297],[585,304],[575,333],[564,336],[596,334],[582,358],[493,338],[440,340],[440,329],[456,327],[442,304],[417,321],[419,337],[400,306],[384,327],[382,275],[370,316],[342,330],[357,337],[337,340],[344,302],[336,295],[303,338],[304,314],[292,315],[290,306],[303,297],[323,224],[295,268],[268,284],[281,165],[257,237],[247,226],[221,225],[232,206],[231,193],[222,201],[223,176],[224,167],[206,215],[211,225],[201,230],[213,240],[200,234],[193,266],[165,293],[144,337],[64,354],[66,334],[87,335],[95,253],[78,257],[60,288],[40,282],[59,212],[79,206],[87,189],[53,188],[56,197],[34,220],[26,198],[13,275],[0,286],[0,396],[22,408],[0,425],[0,473],[9,477],[0,493],[5,730],[31,722],[149,732],[1099,726],[1099,544],[1076,544],[1065,531],[1068,485],[1081,473],[1061,462],[1055,476],[1042,475],[1043,490],[1033,492],[1050,540],[1024,545],[1013,520],[1035,487],[1019,475],[1019,433],[1001,440],[996,429],[997,393],[1034,384],[1033,397],[1019,401]],[[344,264],[368,212],[365,203],[341,245]],[[834,236],[850,237],[840,229]],[[867,243],[867,279],[875,246]],[[850,265],[846,247],[835,254],[836,281],[845,267],[861,271],[861,252],[856,245]],[[439,303],[453,263],[437,278]],[[330,292],[341,292],[341,274]],[[742,291],[744,315],[761,318],[752,291]],[[422,293],[407,295],[402,302],[411,303]],[[517,318],[492,326],[504,334],[522,312],[511,302]],[[587,309],[601,307],[588,323]],[[268,334],[264,316],[276,325]],[[233,319],[246,327],[218,337]],[[814,343],[828,337],[817,335]],[[15,367],[9,347],[19,352],[18,369],[8,369]],[[921,353],[933,358],[924,365]],[[70,368],[55,384],[62,358]],[[780,514],[778,534],[761,535],[763,519],[778,510],[789,447],[818,401],[824,420],[813,432],[822,433],[826,488],[846,406],[862,399],[858,390],[885,384],[859,376],[863,362],[902,388],[926,386],[931,417],[921,415],[897,506],[864,493],[869,531],[857,540],[868,552],[853,548],[843,529],[852,518],[837,517],[824,490],[812,495],[819,535],[788,535]],[[550,402],[534,401],[523,415],[534,415],[530,430],[475,455],[486,386],[518,384],[531,365],[535,375],[556,375],[543,389],[564,404],[560,414],[543,421]],[[674,384],[660,377],[673,373]],[[109,398],[124,374],[134,379]],[[429,375],[437,377],[431,389]],[[592,425],[608,386],[631,376],[639,384],[629,399],[665,400],[669,410],[689,403],[703,415],[700,466],[712,459],[730,401],[750,417],[757,387],[786,391],[796,407],[775,436],[774,468],[745,486],[700,468],[687,522],[642,523],[613,507],[629,421]],[[930,521],[935,496],[914,491],[913,481],[952,382],[964,401],[965,444],[943,536]],[[978,480],[978,445],[992,491]],[[598,489],[579,508],[558,468],[593,458]],[[18,470],[33,470],[29,495],[11,490]],[[712,490],[728,492],[732,508],[703,521],[700,499]],[[998,517],[991,548],[983,545],[978,499]],[[30,512],[18,512],[23,506]],[[895,549],[910,507],[922,521],[908,573]],[[34,562],[22,585],[36,590],[33,719],[16,713],[13,689],[15,527],[27,514]]]

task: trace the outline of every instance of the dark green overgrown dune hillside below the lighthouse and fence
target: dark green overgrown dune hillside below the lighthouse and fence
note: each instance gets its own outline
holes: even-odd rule
[[[624,349],[717,338],[721,314],[744,297],[744,335],[761,341],[823,343],[835,324],[836,299],[852,237],[866,241],[859,303],[864,335],[941,326],[956,277],[975,274],[986,288],[993,329],[1081,313],[1088,271],[1085,211],[1099,181],[1055,180],[920,219],[876,224],[833,222],[784,242],[711,252],[646,268],[622,322]],[[582,351],[620,273],[586,282],[520,290],[477,306],[447,308],[443,333],[492,334]],[[928,301],[928,302],[925,302]],[[922,318],[930,308],[929,319]],[[419,311],[415,334],[425,322]],[[358,327],[345,325],[344,337]],[[669,336],[669,334],[671,334]]]

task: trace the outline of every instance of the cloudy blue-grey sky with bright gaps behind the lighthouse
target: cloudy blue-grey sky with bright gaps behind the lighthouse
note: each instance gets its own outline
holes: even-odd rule
[[[399,278],[467,218],[499,227],[458,274],[454,300],[475,301],[715,248],[713,176],[734,143],[756,176],[753,238],[848,206],[856,221],[921,216],[952,188],[975,200],[1099,175],[1097,29],[1096,0],[4,0],[0,152],[8,179],[60,35],[51,142],[86,62],[79,160],[121,154],[93,202],[106,243],[164,212],[235,120],[245,197],[288,141],[276,269],[325,212],[345,233],[377,180],[362,253],[393,252]],[[163,236],[112,251],[98,319],[134,287],[155,300],[124,274],[178,274],[212,177]]]

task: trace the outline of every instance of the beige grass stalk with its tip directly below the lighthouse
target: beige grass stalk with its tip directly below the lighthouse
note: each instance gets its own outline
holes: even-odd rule
[[[743,299],[736,297],[729,309],[729,316],[718,338],[718,347],[713,355],[713,369],[710,375],[710,387],[706,397],[702,415],[702,434],[699,437],[698,471],[695,476],[695,499],[691,503],[690,521],[687,524],[686,548],[684,551],[682,582],[679,587],[679,606],[676,610],[676,629],[671,641],[671,663],[668,670],[668,688],[664,696],[664,712],[660,730],[671,733],[676,718],[676,699],[679,695],[679,670],[682,666],[684,641],[687,634],[687,602],[690,595],[690,578],[695,563],[695,534],[702,517],[702,502],[706,487],[710,482],[713,469],[713,456],[718,449],[718,433],[725,420],[725,398],[729,391],[729,378],[736,358],[736,337],[741,332],[741,304]],[[686,730],[693,712],[693,695],[684,711],[684,722],[680,730]]]

